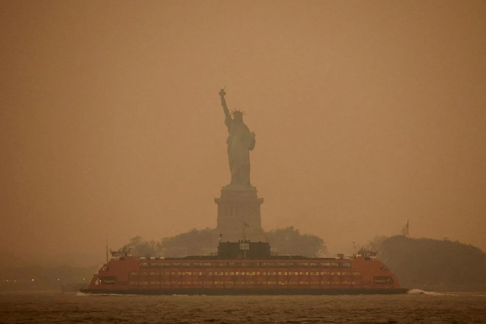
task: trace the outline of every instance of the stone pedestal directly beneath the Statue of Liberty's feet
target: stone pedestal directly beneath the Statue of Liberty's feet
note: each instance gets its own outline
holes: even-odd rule
[[[237,241],[243,239],[243,224],[246,239],[251,241],[263,241],[263,230],[261,228],[260,205],[263,198],[258,198],[257,190],[230,189],[224,187],[221,190],[221,197],[214,198],[218,205],[217,229],[223,234],[223,241]]]

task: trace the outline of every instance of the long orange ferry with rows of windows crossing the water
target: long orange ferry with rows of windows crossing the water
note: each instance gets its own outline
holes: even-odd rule
[[[216,255],[134,257],[126,249],[91,279],[88,293],[284,295],[399,294],[397,277],[372,253],[272,255],[266,242],[221,242]]]

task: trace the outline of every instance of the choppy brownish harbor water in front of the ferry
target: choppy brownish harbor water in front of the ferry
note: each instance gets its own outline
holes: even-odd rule
[[[0,292],[2,323],[486,323],[486,292],[137,296]]]

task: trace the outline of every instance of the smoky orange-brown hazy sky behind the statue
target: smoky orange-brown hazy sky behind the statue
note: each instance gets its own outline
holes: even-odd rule
[[[484,0],[1,0],[0,46],[0,252],[215,227],[224,86],[265,230],[486,250]]]

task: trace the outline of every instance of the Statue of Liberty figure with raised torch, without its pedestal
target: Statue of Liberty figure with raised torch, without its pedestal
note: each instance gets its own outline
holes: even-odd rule
[[[221,89],[221,105],[225,112],[225,125],[228,127],[228,160],[231,171],[231,183],[228,189],[254,189],[250,184],[250,152],[255,147],[255,132],[243,124],[243,111],[232,110],[226,106],[225,90]],[[231,118],[233,115],[233,118]]]

